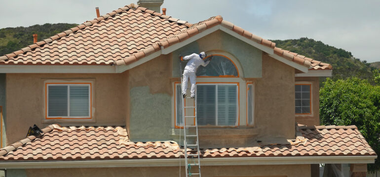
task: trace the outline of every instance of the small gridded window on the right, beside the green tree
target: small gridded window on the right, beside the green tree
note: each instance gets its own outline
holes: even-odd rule
[[[311,84],[296,84],[296,114],[311,114]]]

